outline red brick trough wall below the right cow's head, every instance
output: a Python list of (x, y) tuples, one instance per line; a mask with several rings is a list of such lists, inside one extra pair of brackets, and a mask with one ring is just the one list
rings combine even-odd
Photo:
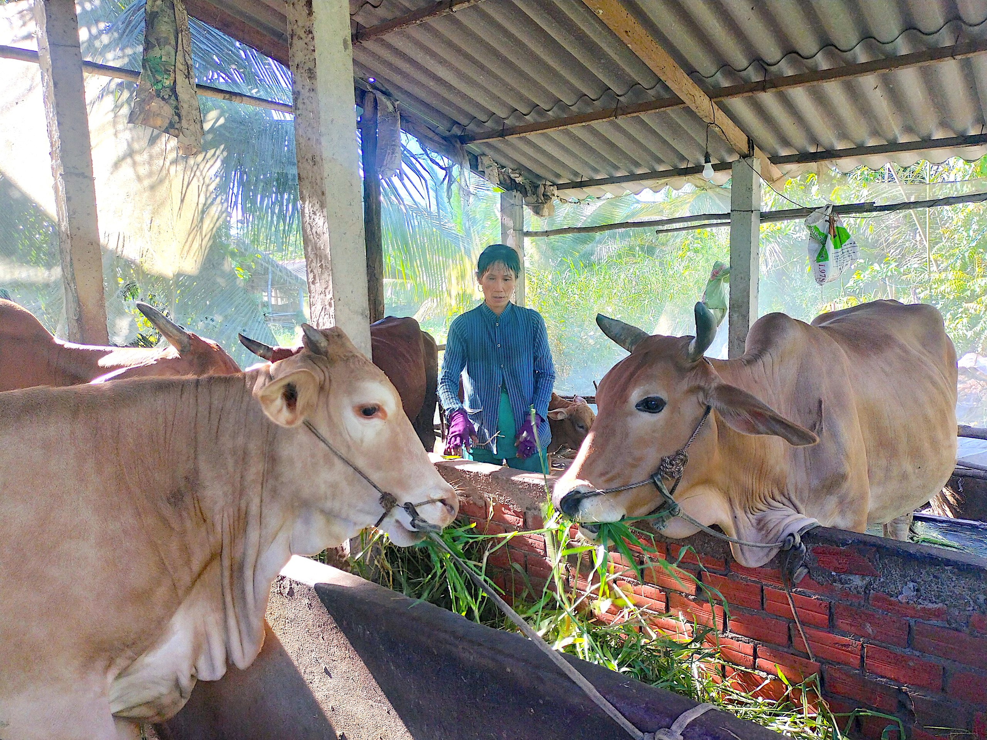
[[(462, 515), (481, 531), (542, 526), (534, 505), (544, 496), (540, 477), (458, 462), (439, 469), (462, 492)], [(715, 626), (721, 656), (737, 668), (728, 678), (740, 686), (761, 686), (764, 696), (780, 696), (785, 687), (777, 678), (779, 666), (796, 680), (819, 674), (823, 696), (836, 712), (868, 708), (893, 714), (916, 740), (949, 735), (937, 727), (987, 740), (987, 563), (830, 529), (813, 530), (804, 541), (809, 575), (794, 589), (793, 600), (814, 660), (793, 620), (777, 562), (743, 567), (707, 535), (661, 541), (658, 550), (672, 560), (682, 555), (680, 567), (719, 590), (728, 615), (691, 578), (680, 583), (663, 568), (646, 567), (640, 554), (643, 582), (627, 577), (625, 588), (654, 613), (659, 629), (682, 629), (681, 622), (659, 616), (667, 612)], [(682, 546), (694, 552), (681, 553)], [(550, 571), (543, 538), (517, 535), (493, 555), (491, 573), (507, 590), (512, 563), (540, 588)], [(854, 729), (878, 740), (886, 725), (865, 718)]]

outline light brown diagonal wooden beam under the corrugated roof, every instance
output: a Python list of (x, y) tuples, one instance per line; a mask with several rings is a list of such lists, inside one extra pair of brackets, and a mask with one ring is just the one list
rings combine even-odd
[(582, 0), (586, 6), (618, 38), (630, 47), (638, 57), (650, 67), (668, 88), (689, 108), (696, 112), (708, 125), (718, 129), (727, 144), (741, 157), (748, 153), (761, 160), (768, 179), (782, 177), (777, 167), (771, 164), (767, 155), (754, 145), (740, 127), (721, 111), (710, 96), (699, 87), (688, 73), (680, 67), (671, 55), (658, 45), (657, 41), (621, 4), (620, 0)]

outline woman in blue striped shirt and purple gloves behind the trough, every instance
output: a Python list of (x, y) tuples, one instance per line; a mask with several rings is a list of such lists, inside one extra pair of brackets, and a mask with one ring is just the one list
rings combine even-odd
[[(438, 382), (449, 419), (445, 454), (547, 472), (555, 368), (541, 314), (510, 302), (520, 272), (510, 247), (484, 250), (477, 260), (484, 302), (449, 327)], [(459, 400), (460, 376), (465, 403)]]

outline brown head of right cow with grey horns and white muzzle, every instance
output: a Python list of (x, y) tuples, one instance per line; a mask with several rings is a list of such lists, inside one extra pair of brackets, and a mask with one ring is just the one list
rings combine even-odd
[[(604, 333), (631, 352), (604, 376), (596, 395), (598, 415), (575, 462), (555, 486), (557, 508), (581, 522), (614, 522), (644, 516), (661, 502), (652, 484), (595, 493), (646, 481), (660, 460), (682, 449), (706, 407), (713, 412), (689, 449), (689, 464), (675, 493), (683, 510), (706, 526), (734, 532), (724, 440), (772, 435), (777, 444), (810, 445), (816, 436), (751, 394), (730, 385), (703, 353), (716, 335), (709, 310), (696, 304), (696, 336), (649, 336), (622, 322), (597, 317)], [(778, 439), (780, 438), (780, 440)], [(781, 442), (784, 440), (784, 442)], [(782, 456), (778, 456), (782, 457)], [(743, 465), (743, 462), (735, 464)], [(672, 519), (663, 534), (687, 537), (693, 525)]]

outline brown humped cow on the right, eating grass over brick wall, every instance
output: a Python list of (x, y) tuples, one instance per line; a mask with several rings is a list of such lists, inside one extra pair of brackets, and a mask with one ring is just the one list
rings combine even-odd
[[(895, 520), (937, 493), (955, 463), (956, 355), (940, 313), (874, 301), (810, 325), (769, 314), (729, 360), (703, 356), (716, 325), (702, 304), (695, 315), (695, 337), (597, 317), (631, 355), (600, 383), (596, 421), (555, 486), (556, 506), (581, 522), (646, 515), (662, 502), (649, 482), (659, 462), (694, 437), (674, 500), (707, 527), (761, 544), (816, 523), (882, 524), (907, 537)], [(638, 481), (648, 482), (598, 492)], [(661, 530), (696, 531), (677, 516)], [(778, 552), (731, 548), (748, 566)]]

